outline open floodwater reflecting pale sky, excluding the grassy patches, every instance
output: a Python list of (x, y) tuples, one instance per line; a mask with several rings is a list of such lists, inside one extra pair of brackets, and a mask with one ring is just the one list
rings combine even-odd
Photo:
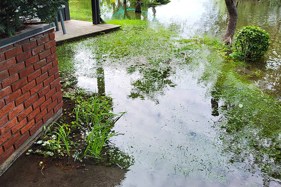
[[(184, 38), (204, 33), (220, 37), (227, 20), (223, 0), (171, 0), (166, 5), (142, 7), (141, 14), (135, 14), (130, 0), (126, 4), (120, 0), (105, 4), (102, 0), (101, 6), (105, 20), (176, 24)], [(237, 28), (255, 25), (270, 33), (268, 55), (249, 68), (259, 69), (263, 78), (257, 84), (277, 95), (281, 91), (280, 8), (280, 4), (240, 1), (237, 24)], [(233, 162), (224, 152), (214, 128), (219, 116), (212, 115), (211, 83), (201, 84), (200, 70), (175, 67), (165, 77), (172, 84), (166, 84), (157, 78), (152, 82), (145, 80), (140, 71), (128, 73), (128, 67), (114, 63), (104, 64), (98, 71), (93, 56), (87, 48), (76, 51), (73, 62), (77, 86), (88, 92), (102, 89), (114, 98), (114, 112), (127, 112), (114, 127), (122, 135), (113, 137), (111, 142), (133, 156), (135, 164), (118, 187), (281, 186), (279, 180), (268, 179), (261, 168), (251, 163), (251, 155), (244, 162)], [(96, 71), (98, 78), (93, 76)], [(143, 84), (136, 84), (138, 81)]]

